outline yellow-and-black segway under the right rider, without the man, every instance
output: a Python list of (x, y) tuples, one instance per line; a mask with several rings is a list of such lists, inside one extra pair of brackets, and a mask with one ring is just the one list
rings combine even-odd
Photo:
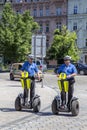
[[(58, 86), (59, 90), (62, 94), (65, 94), (65, 98), (62, 100), (61, 95), (57, 95), (53, 102), (52, 102), (52, 112), (53, 114), (59, 114), (59, 112), (71, 112), (72, 116), (77, 116), (79, 114), (79, 102), (78, 98), (72, 97), (70, 100), (70, 103), (68, 103), (68, 87), (69, 87), (69, 82), (66, 78), (65, 73), (61, 73), (59, 75), (58, 79)], [(62, 108), (62, 104), (64, 107)]]

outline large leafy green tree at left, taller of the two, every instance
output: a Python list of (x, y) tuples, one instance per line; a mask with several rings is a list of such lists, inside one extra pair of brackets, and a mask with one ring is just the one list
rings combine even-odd
[(18, 62), (31, 52), (32, 33), (38, 29), (30, 12), (17, 14), (6, 3), (0, 20), (0, 53), (6, 61)]

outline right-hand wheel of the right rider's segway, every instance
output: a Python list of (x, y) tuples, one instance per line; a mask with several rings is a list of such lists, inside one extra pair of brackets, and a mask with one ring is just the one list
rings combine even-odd
[(72, 116), (77, 116), (79, 114), (79, 102), (77, 100), (72, 101), (71, 112)]

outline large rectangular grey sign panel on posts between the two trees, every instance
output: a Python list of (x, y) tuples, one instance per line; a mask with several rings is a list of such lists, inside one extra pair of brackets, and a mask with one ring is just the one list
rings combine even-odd
[(46, 56), (46, 36), (45, 35), (32, 36), (32, 55), (34, 57)]

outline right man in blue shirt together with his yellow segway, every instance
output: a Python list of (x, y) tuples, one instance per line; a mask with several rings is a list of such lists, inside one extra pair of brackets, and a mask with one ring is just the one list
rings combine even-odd
[(71, 112), (73, 116), (79, 114), (78, 98), (73, 97), (74, 76), (77, 71), (73, 64), (70, 63), (71, 57), (64, 57), (64, 64), (58, 70), (58, 86), (60, 95), (57, 95), (52, 102), (53, 114), (59, 112)]

